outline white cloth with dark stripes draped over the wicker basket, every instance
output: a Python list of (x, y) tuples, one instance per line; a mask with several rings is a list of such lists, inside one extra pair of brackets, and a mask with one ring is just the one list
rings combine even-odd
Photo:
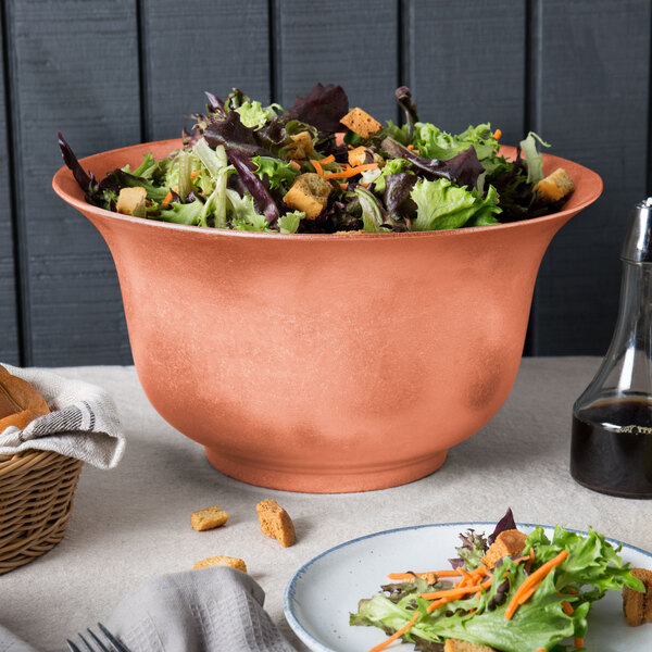
[(42, 450), (76, 457), (98, 468), (113, 468), (120, 462), (125, 438), (106, 391), (43, 369), (2, 366), (32, 383), (55, 411), (39, 416), (22, 430), (10, 426), (0, 432), (0, 455)]

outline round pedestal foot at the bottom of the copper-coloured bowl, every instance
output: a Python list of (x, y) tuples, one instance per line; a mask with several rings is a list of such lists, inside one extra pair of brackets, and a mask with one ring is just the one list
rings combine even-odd
[(369, 465), (365, 469), (334, 466), (331, 469), (301, 469), (299, 467), (272, 467), (261, 464), (260, 459), (242, 460), (224, 454), (223, 450), (205, 447), (209, 462), (225, 475), (267, 489), (300, 491), (304, 493), (352, 493), (387, 489), (406, 485), (438, 471), (446, 462), (448, 450), (408, 464), (394, 466)]

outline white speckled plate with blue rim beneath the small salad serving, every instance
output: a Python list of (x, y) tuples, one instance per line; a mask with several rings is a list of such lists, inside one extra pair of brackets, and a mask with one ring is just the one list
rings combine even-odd
[[(314, 652), (365, 652), (386, 640), (376, 627), (352, 627), (349, 613), (361, 598), (376, 594), (387, 574), (449, 568), (456, 556), (459, 535), (473, 528), (489, 535), (492, 523), (447, 523), (377, 532), (336, 546), (299, 568), (285, 591), (284, 611), (290, 627)], [(518, 524), (523, 531), (536, 525)], [(543, 526), (550, 537), (554, 528)], [(614, 544), (616, 541), (610, 539)], [(652, 554), (623, 546), (620, 555), (634, 566), (652, 568)], [(589, 616), (586, 645), (591, 652), (652, 650), (652, 625), (629, 627), (623, 617), (618, 591), (597, 602)], [(411, 643), (389, 650), (410, 652)]]

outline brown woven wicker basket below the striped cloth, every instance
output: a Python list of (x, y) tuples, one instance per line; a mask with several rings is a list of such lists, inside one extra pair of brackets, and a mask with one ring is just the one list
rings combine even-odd
[(0, 575), (61, 541), (83, 464), (50, 451), (0, 456)]

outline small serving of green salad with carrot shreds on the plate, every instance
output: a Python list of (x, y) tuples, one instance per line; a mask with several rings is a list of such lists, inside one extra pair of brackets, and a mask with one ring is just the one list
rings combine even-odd
[[(500, 550), (501, 537), (518, 543)], [(526, 536), (509, 510), (489, 537), (468, 530), (461, 538), (451, 569), (390, 574), (379, 594), (360, 601), (351, 625), (390, 637), (374, 652), (398, 638), (424, 652), (440, 652), (447, 641), (447, 650), (468, 649), (454, 641), (502, 652), (586, 650), (593, 602), (607, 589), (644, 590), (620, 549), (591, 528), (582, 535), (557, 526), (549, 539), (537, 527)]]

